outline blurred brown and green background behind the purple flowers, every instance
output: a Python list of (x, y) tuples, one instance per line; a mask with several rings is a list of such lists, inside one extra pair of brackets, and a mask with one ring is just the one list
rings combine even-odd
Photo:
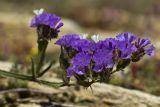
[[(0, 0), (0, 61), (25, 65), (37, 54), (36, 30), (29, 25), (33, 10), (40, 8), (63, 18), (60, 36), (89, 33), (115, 37), (129, 31), (150, 38), (156, 47), (155, 56), (131, 64), (125, 72), (113, 76), (110, 84), (160, 95), (159, 0)], [(54, 42), (50, 42), (47, 58), (56, 62), (59, 47)], [(0, 82), (0, 89), (27, 87), (23, 82), (13, 85), (13, 80), (7, 81), (9, 85)]]

